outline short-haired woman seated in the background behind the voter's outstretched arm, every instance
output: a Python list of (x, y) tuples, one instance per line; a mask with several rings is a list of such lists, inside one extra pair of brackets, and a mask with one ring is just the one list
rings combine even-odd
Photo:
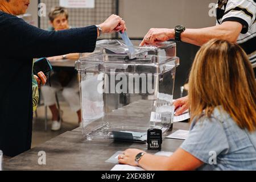
[[(51, 23), (51, 31), (61, 31), (71, 28), (68, 23), (68, 10), (64, 7), (53, 7), (49, 12), (49, 21)], [(67, 55), (48, 57), (50, 61), (63, 59), (77, 60), (79, 53), (69, 53)], [(75, 64), (75, 63), (74, 63)], [(56, 131), (61, 128), (62, 111), (59, 111), (56, 106), (55, 94), (62, 90), (63, 97), (68, 102), (73, 111), (77, 113), (79, 123), (81, 123), (81, 109), (79, 97), (79, 84), (75, 70), (64, 71), (59, 70), (51, 76), (51, 86), (48, 84), (42, 87), (42, 95), (44, 105), (48, 106), (52, 113), (51, 130)]]

